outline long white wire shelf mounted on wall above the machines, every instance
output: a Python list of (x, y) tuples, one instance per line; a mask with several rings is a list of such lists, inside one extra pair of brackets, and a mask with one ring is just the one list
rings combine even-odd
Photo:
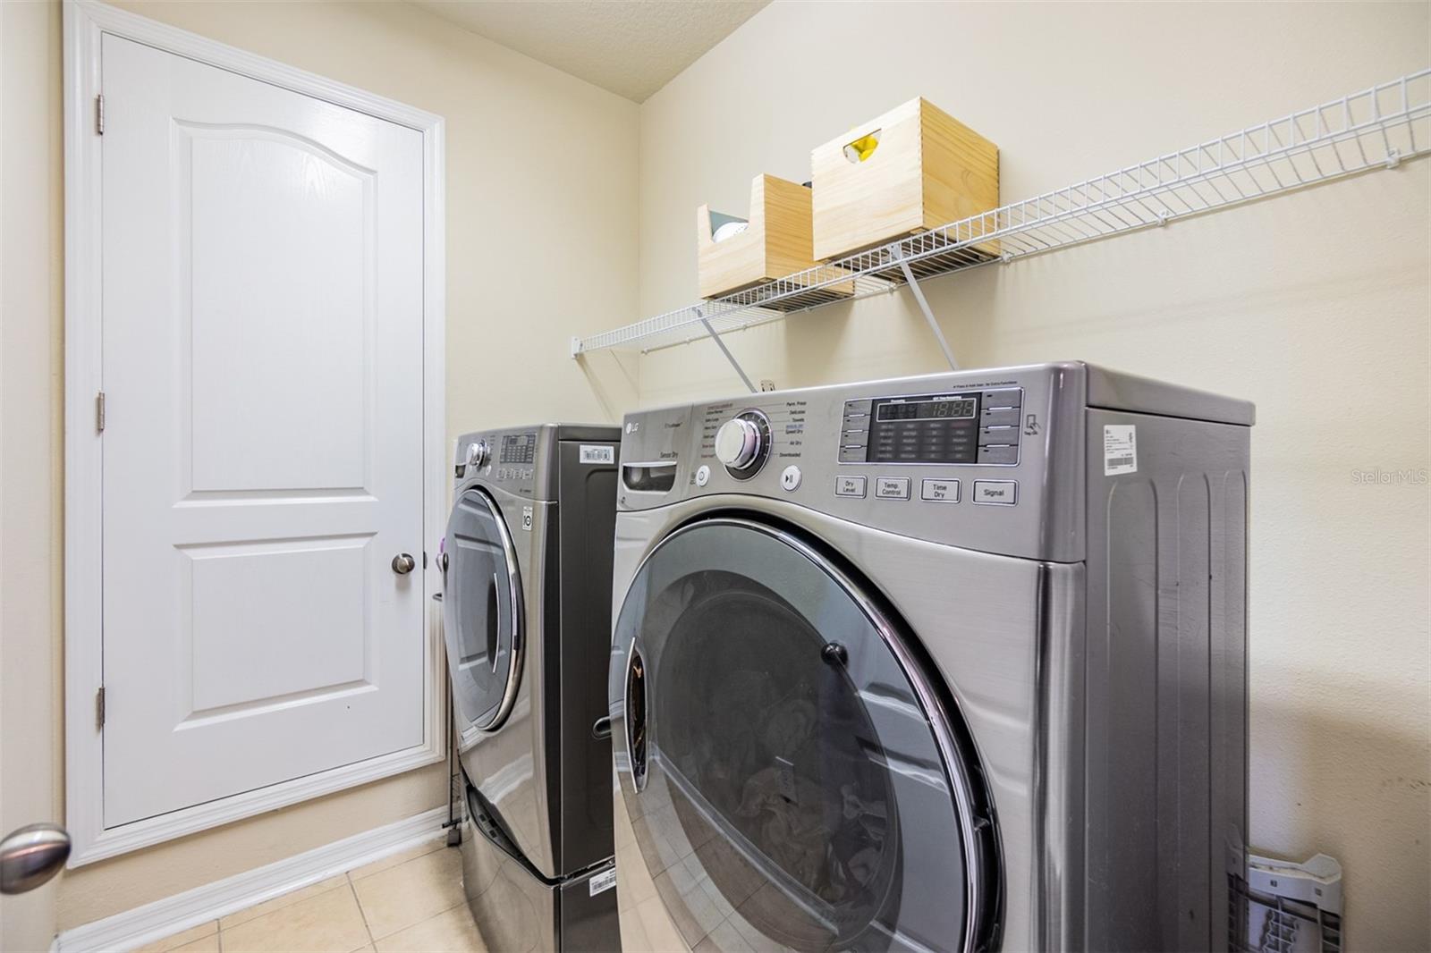
[(746, 290), (572, 338), (571, 353), (650, 352), (705, 338), (720, 343), (718, 335), (790, 313), (1391, 169), (1428, 152), (1431, 69)]

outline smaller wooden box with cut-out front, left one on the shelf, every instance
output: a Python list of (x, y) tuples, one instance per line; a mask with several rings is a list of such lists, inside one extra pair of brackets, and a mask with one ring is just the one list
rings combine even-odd
[(708, 205), (695, 209), (695, 263), (701, 298), (784, 278), (814, 265), (810, 253), (810, 189), (776, 176), (750, 183), (750, 225), (714, 239)]

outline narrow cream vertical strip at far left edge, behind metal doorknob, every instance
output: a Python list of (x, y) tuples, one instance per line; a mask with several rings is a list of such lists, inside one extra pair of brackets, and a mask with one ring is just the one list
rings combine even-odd
[[(60, 20), (0, 3), (0, 834), (63, 821)], [(57, 881), (0, 897), (0, 950), (47, 949)]]

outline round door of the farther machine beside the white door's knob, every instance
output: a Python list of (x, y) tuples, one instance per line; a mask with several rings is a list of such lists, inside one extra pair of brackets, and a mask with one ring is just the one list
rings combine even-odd
[(507, 522), (481, 489), (465, 491), (452, 507), (442, 587), (458, 730), (495, 731), (521, 681), (522, 594)]

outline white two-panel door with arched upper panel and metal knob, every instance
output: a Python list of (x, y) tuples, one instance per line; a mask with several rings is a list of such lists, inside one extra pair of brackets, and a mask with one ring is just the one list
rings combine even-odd
[(269, 83), (102, 56), (113, 827), (424, 743), (424, 156)]

